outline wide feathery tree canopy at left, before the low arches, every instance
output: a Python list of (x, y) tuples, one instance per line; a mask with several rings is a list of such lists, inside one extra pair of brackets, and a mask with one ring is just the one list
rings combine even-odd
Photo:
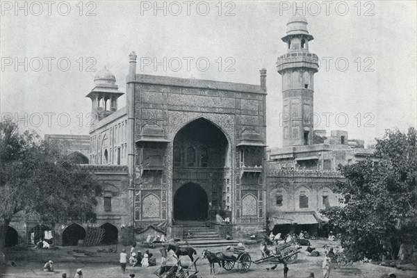
[(33, 131), (19, 133), (13, 122), (0, 122), (1, 220), (17, 212), (38, 213), (44, 222), (95, 220), (101, 192), (94, 174), (78, 167), (62, 145)]

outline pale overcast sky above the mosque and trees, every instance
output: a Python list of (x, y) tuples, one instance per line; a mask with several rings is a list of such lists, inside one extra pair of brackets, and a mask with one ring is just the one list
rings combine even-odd
[[(20, 9), (15, 3), (1, 6), (2, 117), (27, 113), (21, 126), (42, 135), (88, 134), (85, 95), (96, 74), (90, 70), (106, 65), (125, 92), (128, 56), (136, 51), (143, 74), (259, 84), (265, 67), (268, 145), (281, 145), (275, 63), (286, 53), (281, 38), (293, 1), (158, 1), (165, 10), (154, 1), (21, 1)], [(385, 129), (416, 126), (416, 1), (297, 3), (314, 36), (309, 50), (321, 62), (314, 77), (316, 129), (347, 130), (349, 138), (369, 141)], [(161, 64), (166, 58), (166, 72), (163, 65), (154, 69), (154, 58)], [(140, 61), (149, 60), (141, 69)]]

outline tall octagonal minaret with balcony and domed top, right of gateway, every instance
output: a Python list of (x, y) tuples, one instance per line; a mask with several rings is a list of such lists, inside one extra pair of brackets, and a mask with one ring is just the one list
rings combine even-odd
[(280, 56), (277, 69), (282, 76), (283, 146), (310, 145), (313, 138), (314, 74), (318, 72), (318, 58), (309, 52), (313, 36), (307, 31), (307, 20), (296, 14), (287, 23), (287, 53)]

